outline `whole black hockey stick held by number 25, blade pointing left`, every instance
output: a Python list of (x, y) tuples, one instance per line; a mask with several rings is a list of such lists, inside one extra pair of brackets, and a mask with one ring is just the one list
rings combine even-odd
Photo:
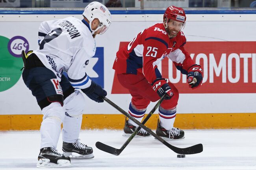
[[(166, 94), (165, 94), (166, 95)], [(163, 102), (165, 95), (163, 95), (161, 97), (161, 99), (156, 103), (156, 105), (154, 106), (154, 108), (152, 108), (152, 110), (148, 113), (147, 117), (145, 117), (145, 119), (143, 120), (142, 124), (145, 124), (148, 119), (151, 117), (151, 115), (156, 111), (156, 109), (160, 106), (161, 102)], [(106, 101), (106, 99), (104, 99)], [(136, 130), (132, 133), (132, 135), (127, 139), (127, 141), (122, 145), (122, 147), (120, 149), (117, 148), (113, 148), (111, 146), (108, 146), (104, 143), (101, 142), (96, 142), (96, 147), (104, 152), (108, 152), (109, 154), (112, 155), (120, 155), (121, 152), (124, 150), (124, 148), (126, 148), (126, 146), (132, 141), (132, 139), (135, 137), (135, 135), (137, 135), (137, 133), (139, 132), (139, 130), (141, 129), (141, 127), (139, 126), (138, 128), (136, 128)]]

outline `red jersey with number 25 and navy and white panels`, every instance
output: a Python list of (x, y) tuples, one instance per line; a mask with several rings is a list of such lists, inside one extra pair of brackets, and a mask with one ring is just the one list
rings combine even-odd
[(150, 84), (162, 78), (157, 66), (164, 57), (173, 61), (183, 74), (195, 64), (184, 49), (186, 37), (180, 31), (174, 38), (169, 38), (162, 23), (144, 29), (127, 46), (117, 51), (113, 69), (117, 74), (143, 73)]

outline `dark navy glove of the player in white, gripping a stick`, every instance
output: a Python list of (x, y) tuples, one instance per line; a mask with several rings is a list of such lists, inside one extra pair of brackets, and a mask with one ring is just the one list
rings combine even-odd
[(91, 86), (89, 88), (82, 89), (82, 91), (90, 99), (98, 103), (104, 102), (102, 97), (105, 97), (107, 95), (107, 91), (93, 81), (91, 81)]

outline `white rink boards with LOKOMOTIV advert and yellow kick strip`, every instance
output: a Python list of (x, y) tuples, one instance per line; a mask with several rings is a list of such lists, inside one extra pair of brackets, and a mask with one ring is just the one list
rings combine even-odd
[[(80, 11), (82, 14), (82, 11)], [(47, 13), (47, 14), (46, 14)], [(117, 12), (116, 12), (117, 13)], [(160, 13), (160, 12), (159, 12)], [(191, 90), (186, 76), (166, 58), (159, 66), (163, 77), (178, 88), (180, 99), (175, 126), (191, 128), (256, 127), (256, 12), (223, 13), (187, 11), (183, 30), (186, 50), (204, 68), (201, 88)], [(37, 48), (40, 22), (70, 16), (51, 12), (5, 14), (0, 11), (0, 130), (39, 129), (39, 106), (22, 81), (21, 50)], [(77, 18), (81, 15), (74, 13)], [(140, 31), (162, 20), (162, 14), (114, 14), (108, 31), (96, 37), (96, 55), (87, 74), (108, 92), (108, 98), (128, 111), (130, 95), (112, 69), (115, 53)], [(124, 116), (107, 103), (86, 98), (83, 129), (121, 129)], [(154, 106), (151, 103), (148, 110)], [(156, 128), (158, 115), (147, 126)]]

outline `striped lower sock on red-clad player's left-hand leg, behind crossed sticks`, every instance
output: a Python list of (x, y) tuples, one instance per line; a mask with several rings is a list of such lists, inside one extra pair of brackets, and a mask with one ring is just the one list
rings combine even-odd
[[(145, 109), (137, 109), (135, 108), (135, 106), (132, 104), (132, 102), (130, 102), (130, 106), (129, 106), (129, 114), (134, 117), (137, 121), (141, 122), (145, 112), (146, 112), (147, 108)], [(133, 126), (138, 126), (134, 121), (132, 120), (128, 120), (128, 123), (132, 124)]]

